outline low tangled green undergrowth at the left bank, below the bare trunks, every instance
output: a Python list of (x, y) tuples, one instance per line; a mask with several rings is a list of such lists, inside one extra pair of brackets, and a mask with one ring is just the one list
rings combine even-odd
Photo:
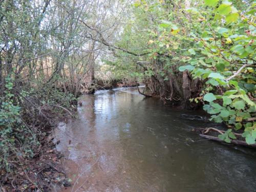
[(14, 77), (6, 77), (4, 95), (0, 100), (2, 176), (13, 171), (13, 162), (19, 157), (34, 156), (34, 150), (40, 145), (39, 139), (45, 137), (47, 130), (54, 125), (54, 118), (63, 112), (62, 108), (71, 108), (75, 100), (72, 94), (55, 88), (19, 90)]

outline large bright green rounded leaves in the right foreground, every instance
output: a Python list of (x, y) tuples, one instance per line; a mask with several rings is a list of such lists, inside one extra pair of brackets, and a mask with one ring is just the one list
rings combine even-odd
[[(254, 144), (256, 124), (248, 120), (256, 107), (253, 100), (255, 4), (243, 12), (228, 1), (205, 1), (205, 5), (209, 6), (203, 7), (207, 11), (193, 9), (193, 17), (200, 18), (201, 22), (194, 23), (195, 29), (188, 38), (195, 42), (187, 52), (191, 74), (207, 80), (202, 94), (203, 100), (208, 102), (204, 110), (211, 114), (210, 120), (225, 122), (234, 130), (243, 128), (246, 142)], [(221, 138), (229, 141), (223, 135)]]

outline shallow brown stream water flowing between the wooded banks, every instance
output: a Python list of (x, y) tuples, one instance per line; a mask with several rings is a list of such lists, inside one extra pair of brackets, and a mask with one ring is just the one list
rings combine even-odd
[(55, 140), (74, 184), (60, 191), (256, 191), (255, 151), (200, 138), (188, 120), (136, 88), (83, 95)]

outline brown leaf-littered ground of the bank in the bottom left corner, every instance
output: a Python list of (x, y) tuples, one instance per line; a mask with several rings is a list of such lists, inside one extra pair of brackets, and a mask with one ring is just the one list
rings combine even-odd
[[(53, 127), (51, 127), (53, 128)], [(52, 191), (53, 188), (70, 186), (60, 162), (62, 155), (52, 142), (52, 129), (40, 140), (33, 158), (18, 157), (11, 161), (12, 172), (1, 170), (0, 191)]]

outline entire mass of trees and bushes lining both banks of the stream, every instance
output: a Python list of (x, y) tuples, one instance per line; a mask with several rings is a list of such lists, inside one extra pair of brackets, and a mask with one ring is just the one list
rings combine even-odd
[[(151, 81), (164, 99), (201, 101), (229, 127), (220, 139), (242, 130), (255, 143), (255, 3), (137, 0), (126, 15), (126, 1), (81, 4), (0, 2), (1, 168), (10, 170), (10, 154), (33, 156), (56, 106), (69, 108), (92, 84), (95, 63), (99, 76)], [(190, 78), (201, 87), (193, 91)]]

